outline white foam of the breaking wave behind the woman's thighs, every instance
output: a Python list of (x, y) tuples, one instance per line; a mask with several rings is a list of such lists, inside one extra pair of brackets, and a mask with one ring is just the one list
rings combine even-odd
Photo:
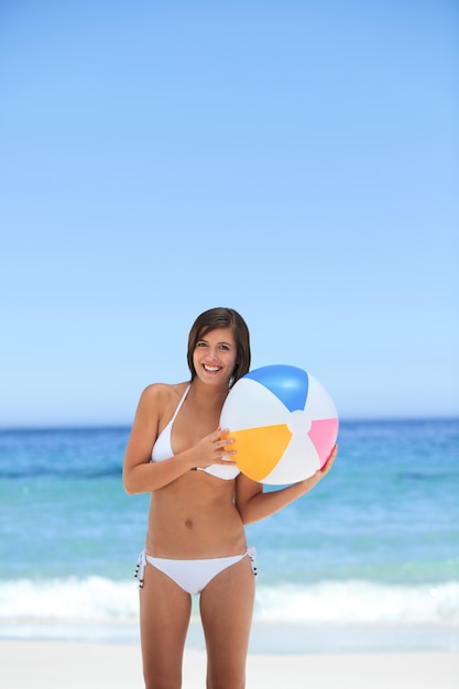
[[(138, 605), (133, 581), (88, 577), (0, 582), (0, 625), (133, 623), (138, 620)], [(308, 586), (258, 584), (254, 619), (304, 624), (459, 626), (459, 581), (438, 586), (395, 586), (358, 580), (321, 581)]]

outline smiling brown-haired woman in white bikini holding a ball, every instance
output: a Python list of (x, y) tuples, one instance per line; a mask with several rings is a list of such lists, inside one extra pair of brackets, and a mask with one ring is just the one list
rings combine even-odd
[(188, 338), (190, 381), (142, 393), (127, 446), (123, 484), (151, 493), (145, 550), (138, 565), (146, 689), (179, 689), (192, 611), (200, 594), (208, 689), (242, 689), (254, 601), (254, 553), (244, 524), (309, 491), (330, 470), (336, 448), (314, 477), (278, 491), (241, 474), (228, 429), (219, 428), (231, 385), (249, 371), (242, 317), (214, 308)]

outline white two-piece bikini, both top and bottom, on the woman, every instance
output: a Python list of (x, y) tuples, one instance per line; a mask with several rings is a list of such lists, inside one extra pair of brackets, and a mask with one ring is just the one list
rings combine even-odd
[[(172, 419), (157, 436), (156, 442), (154, 444), (152, 450), (152, 462), (163, 461), (165, 459), (174, 457), (174, 452), (171, 446), (172, 427), (178, 412), (181, 411), (183, 403), (186, 400), (189, 387), (190, 386), (188, 385), (188, 387), (185, 390), (185, 393), (179, 401)], [(211, 475), (218, 479), (222, 479), (225, 481), (236, 479), (236, 477), (240, 473), (239, 469), (233, 464), (230, 464), (229, 467), (225, 467), (222, 464), (211, 464), (210, 467), (205, 468), (197, 467), (197, 469), (205, 471), (206, 473), (210, 473)], [(240, 560), (242, 560), (242, 558), (244, 557), (250, 558), (253, 576), (256, 577), (254, 548), (248, 548), (242, 555), (196, 560), (175, 560), (162, 557), (153, 557), (151, 555), (147, 555), (145, 550), (142, 550), (139, 556), (138, 565), (135, 567), (134, 577), (139, 581), (139, 588), (142, 588), (146, 562), (149, 562), (150, 565), (162, 571), (164, 575), (170, 577), (170, 579), (172, 579), (184, 591), (186, 591), (190, 595), (196, 595), (206, 588), (206, 586), (209, 583), (209, 581), (214, 579), (214, 577), (223, 571), (223, 569), (227, 569), (228, 567), (240, 562)]]

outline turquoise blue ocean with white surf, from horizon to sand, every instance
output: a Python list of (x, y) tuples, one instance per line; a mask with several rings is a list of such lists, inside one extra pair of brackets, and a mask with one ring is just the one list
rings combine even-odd
[[(139, 642), (129, 430), (0, 431), (0, 638)], [(458, 652), (459, 419), (343, 420), (338, 442), (314, 491), (247, 527), (251, 650)]]

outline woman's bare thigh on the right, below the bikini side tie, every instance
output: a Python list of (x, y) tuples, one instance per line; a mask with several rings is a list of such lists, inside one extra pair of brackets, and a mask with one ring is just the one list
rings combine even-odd
[(209, 689), (244, 687), (254, 597), (249, 557), (217, 575), (200, 594)]

